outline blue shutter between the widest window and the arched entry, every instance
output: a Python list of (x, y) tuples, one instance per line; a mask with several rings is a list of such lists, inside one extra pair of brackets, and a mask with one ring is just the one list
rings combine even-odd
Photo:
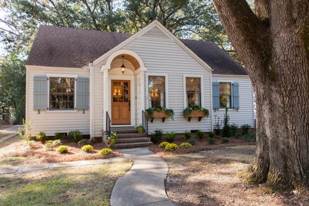
[(76, 78), (76, 109), (89, 109), (89, 78)]

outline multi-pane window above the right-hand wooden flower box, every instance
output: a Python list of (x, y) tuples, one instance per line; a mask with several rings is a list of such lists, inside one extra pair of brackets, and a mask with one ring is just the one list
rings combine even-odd
[(186, 78), (186, 90), (187, 90), (187, 106), (192, 107), (194, 105), (201, 106), (201, 79), (187, 77)]

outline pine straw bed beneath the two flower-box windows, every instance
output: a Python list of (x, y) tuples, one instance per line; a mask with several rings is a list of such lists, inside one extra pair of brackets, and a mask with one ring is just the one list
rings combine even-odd
[(176, 139), (176, 141), (173, 142), (173, 143), (178, 145), (178, 150), (174, 151), (174, 152), (165, 151), (165, 149), (159, 147), (159, 144), (152, 144), (148, 148), (152, 152), (163, 157), (163, 156), (166, 156), (166, 155), (187, 154), (187, 153), (199, 152), (199, 151), (203, 151), (203, 150), (220, 149), (220, 148), (224, 148), (224, 147), (231, 147), (231, 146), (237, 146), (237, 145), (248, 145), (248, 144), (255, 145), (256, 144), (255, 142), (243, 142), (241, 139), (237, 139), (237, 138), (234, 138), (234, 137), (231, 137), (229, 142), (222, 143), (222, 137), (216, 136), (215, 137), (216, 141), (215, 141), (214, 144), (208, 143), (208, 137), (204, 137), (201, 140), (197, 139), (196, 137), (192, 138), (192, 139), (196, 140), (197, 142), (191, 148), (181, 148), (180, 147), (181, 143), (187, 142), (187, 140), (184, 137)]

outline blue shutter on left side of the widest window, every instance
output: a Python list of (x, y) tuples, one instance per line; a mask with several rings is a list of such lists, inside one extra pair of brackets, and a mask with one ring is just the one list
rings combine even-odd
[(40, 110), (48, 110), (47, 103), (47, 81), (46, 76), (36, 76), (34, 77), (34, 102), (33, 108)]

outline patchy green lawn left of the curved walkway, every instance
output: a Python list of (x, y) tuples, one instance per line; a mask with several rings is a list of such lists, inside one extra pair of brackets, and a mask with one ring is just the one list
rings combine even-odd
[(129, 160), (0, 175), (1, 205), (110, 205), (116, 180), (132, 166)]

